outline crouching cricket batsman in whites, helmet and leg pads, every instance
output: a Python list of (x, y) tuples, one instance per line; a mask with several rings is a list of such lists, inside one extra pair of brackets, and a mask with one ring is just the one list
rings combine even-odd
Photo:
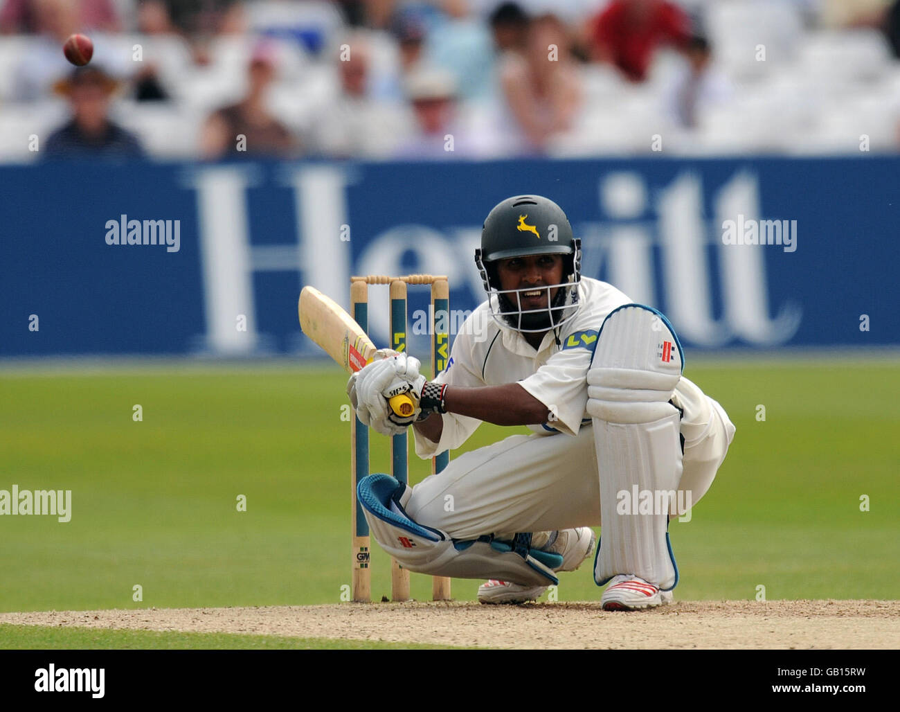
[[(487, 301), (433, 381), (393, 354), (354, 374), (357, 417), (384, 435), (413, 428), (429, 458), (482, 421), (527, 425), (461, 455), (414, 487), (385, 474), (359, 483), (372, 534), (410, 571), (488, 579), (482, 603), (536, 600), (596, 548), (605, 610), (672, 600), (672, 516), (707, 492), (734, 425), (685, 378), (678, 337), (658, 311), (581, 276), (581, 240), (538, 195), (499, 203), (475, 251)], [(401, 418), (387, 399), (418, 405)], [(599, 543), (590, 527), (601, 526)]]

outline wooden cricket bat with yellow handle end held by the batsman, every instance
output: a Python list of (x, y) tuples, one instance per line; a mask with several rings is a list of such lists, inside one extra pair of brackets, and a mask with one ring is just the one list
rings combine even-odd
[[(365, 331), (341, 309), (338, 302), (315, 287), (303, 287), (297, 303), (303, 333), (331, 356), (347, 373), (356, 373), (371, 364), (375, 345)], [(388, 403), (401, 418), (409, 418), (416, 404), (406, 393), (395, 395)]]

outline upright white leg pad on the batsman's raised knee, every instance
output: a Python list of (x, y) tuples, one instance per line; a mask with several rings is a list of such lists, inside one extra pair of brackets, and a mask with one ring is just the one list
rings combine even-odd
[(667, 535), (678, 513), (680, 413), (669, 401), (682, 355), (668, 321), (629, 304), (603, 322), (588, 372), (602, 531), (594, 579), (622, 573), (663, 590), (678, 582)]

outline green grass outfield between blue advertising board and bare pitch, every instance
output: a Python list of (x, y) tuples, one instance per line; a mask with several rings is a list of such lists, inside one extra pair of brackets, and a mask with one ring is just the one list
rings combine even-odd
[[(896, 599), (900, 362), (689, 361), (686, 374), (737, 436), (693, 520), (671, 527), (679, 599), (758, 586)], [(0, 517), (0, 611), (337, 603), (350, 582), (345, 382), (330, 365), (0, 372), (0, 489), (72, 491), (67, 523)], [(467, 447), (518, 430), (485, 426)], [(418, 481), (428, 464), (410, 463)], [(387, 467), (373, 434), (373, 469)], [(428, 599), (430, 581), (412, 578)], [(475, 590), (454, 581), (457, 599)], [(373, 595), (390, 595), (377, 546)], [(563, 574), (558, 595), (597, 599), (590, 566)]]

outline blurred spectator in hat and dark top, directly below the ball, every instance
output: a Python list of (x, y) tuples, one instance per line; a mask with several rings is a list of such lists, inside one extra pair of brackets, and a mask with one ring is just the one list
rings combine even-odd
[(109, 117), (110, 101), (118, 82), (98, 65), (76, 68), (55, 89), (67, 97), (72, 118), (50, 134), (46, 158), (139, 158), (140, 142)]

